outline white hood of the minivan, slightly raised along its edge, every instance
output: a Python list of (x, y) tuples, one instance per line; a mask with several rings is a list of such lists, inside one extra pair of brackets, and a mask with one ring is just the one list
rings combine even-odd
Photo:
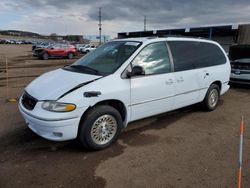
[(38, 100), (57, 100), (64, 93), (79, 84), (100, 78), (101, 76), (70, 72), (57, 69), (33, 80), (25, 91)]

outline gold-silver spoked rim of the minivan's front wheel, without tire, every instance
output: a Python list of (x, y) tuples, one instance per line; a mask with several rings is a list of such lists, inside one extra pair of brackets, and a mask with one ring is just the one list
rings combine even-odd
[(117, 132), (117, 121), (112, 115), (100, 116), (91, 127), (91, 138), (97, 145), (107, 144)]

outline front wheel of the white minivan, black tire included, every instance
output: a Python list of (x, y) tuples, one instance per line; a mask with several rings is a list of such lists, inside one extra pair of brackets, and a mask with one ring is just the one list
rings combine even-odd
[(85, 148), (100, 150), (114, 143), (122, 129), (120, 113), (111, 106), (96, 106), (82, 119), (78, 138)]

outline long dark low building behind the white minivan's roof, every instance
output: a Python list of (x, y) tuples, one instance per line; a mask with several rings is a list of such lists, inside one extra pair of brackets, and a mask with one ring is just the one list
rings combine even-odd
[(235, 24), (182, 29), (165, 29), (118, 33), (118, 38), (131, 37), (201, 37), (217, 41), (228, 52), (232, 44), (250, 44), (250, 24)]

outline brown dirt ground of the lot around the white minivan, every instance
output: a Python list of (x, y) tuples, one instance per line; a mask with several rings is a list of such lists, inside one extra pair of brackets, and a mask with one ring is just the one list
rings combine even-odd
[(0, 187), (236, 187), (239, 122), (245, 117), (243, 186), (250, 187), (250, 87), (233, 86), (213, 112), (194, 105), (129, 125), (110, 148), (31, 132), (17, 103), (32, 79), (72, 62), (33, 58), (31, 46), (0, 45)]

